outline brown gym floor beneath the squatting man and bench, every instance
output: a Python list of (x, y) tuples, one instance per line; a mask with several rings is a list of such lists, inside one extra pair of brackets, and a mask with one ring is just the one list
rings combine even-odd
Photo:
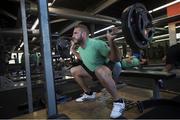
[[(150, 89), (120, 84), (118, 85), (118, 93), (126, 100), (127, 103), (127, 108), (123, 115), (123, 118), (125, 119), (139, 118), (143, 114), (146, 114), (153, 109), (149, 108), (146, 109), (143, 113), (140, 113), (138, 107), (136, 105), (131, 104), (136, 101), (150, 99), (152, 96), (152, 91)], [(161, 92), (162, 98), (172, 99), (176, 96), (177, 94), (174, 93)], [(69, 102), (58, 104), (59, 113), (67, 115), (70, 119), (109, 119), (111, 108), (112, 99), (105, 89), (102, 89), (101, 92), (97, 93), (97, 99), (95, 101), (89, 101), (86, 103), (76, 103), (74, 100), (72, 100)], [(173, 111), (171, 110), (171, 112)], [(46, 118), (47, 112), (46, 109), (43, 109), (30, 114), (18, 116), (15, 119)]]

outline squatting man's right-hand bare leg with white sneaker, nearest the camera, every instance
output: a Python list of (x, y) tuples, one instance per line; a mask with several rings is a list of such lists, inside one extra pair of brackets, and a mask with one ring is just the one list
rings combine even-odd
[(106, 66), (98, 67), (95, 70), (95, 74), (101, 84), (107, 89), (107, 91), (112, 95), (114, 102), (113, 102), (113, 109), (111, 111), (111, 118), (118, 118), (122, 115), (125, 109), (124, 101), (118, 96), (116, 85), (114, 80), (112, 79), (112, 72)]

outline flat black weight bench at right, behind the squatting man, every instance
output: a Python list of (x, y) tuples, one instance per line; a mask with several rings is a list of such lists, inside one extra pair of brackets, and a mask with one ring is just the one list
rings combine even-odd
[(122, 70), (120, 76), (151, 78), (154, 81), (152, 99), (137, 101), (136, 103), (140, 112), (143, 112), (146, 108), (158, 105), (180, 106), (179, 102), (160, 98), (160, 88), (163, 86), (163, 81), (175, 77), (175, 73), (151, 70)]

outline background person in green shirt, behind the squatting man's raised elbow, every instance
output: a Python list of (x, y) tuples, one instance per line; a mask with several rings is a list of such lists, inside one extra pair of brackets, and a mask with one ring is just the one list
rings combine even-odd
[(132, 50), (127, 52), (126, 58), (122, 59), (123, 69), (133, 69), (139, 67), (140, 61), (136, 56), (132, 55)]

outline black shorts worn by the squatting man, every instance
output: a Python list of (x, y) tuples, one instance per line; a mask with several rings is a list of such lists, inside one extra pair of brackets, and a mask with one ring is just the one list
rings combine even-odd
[[(113, 67), (114, 67), (114, 64), (115, 64), (115, 62), (109, 61), (108, 63), (106, 63), (104, 65), (107, 66), (112, 71)], [(81, 65), (87, 71), (87, 73), (89, 73), (91, 75), (93, 80), (97, 80), (95, 72), (89, 70), (81, 60), (78, 61), (78, 63), (76, 63), (76, 65)]]

